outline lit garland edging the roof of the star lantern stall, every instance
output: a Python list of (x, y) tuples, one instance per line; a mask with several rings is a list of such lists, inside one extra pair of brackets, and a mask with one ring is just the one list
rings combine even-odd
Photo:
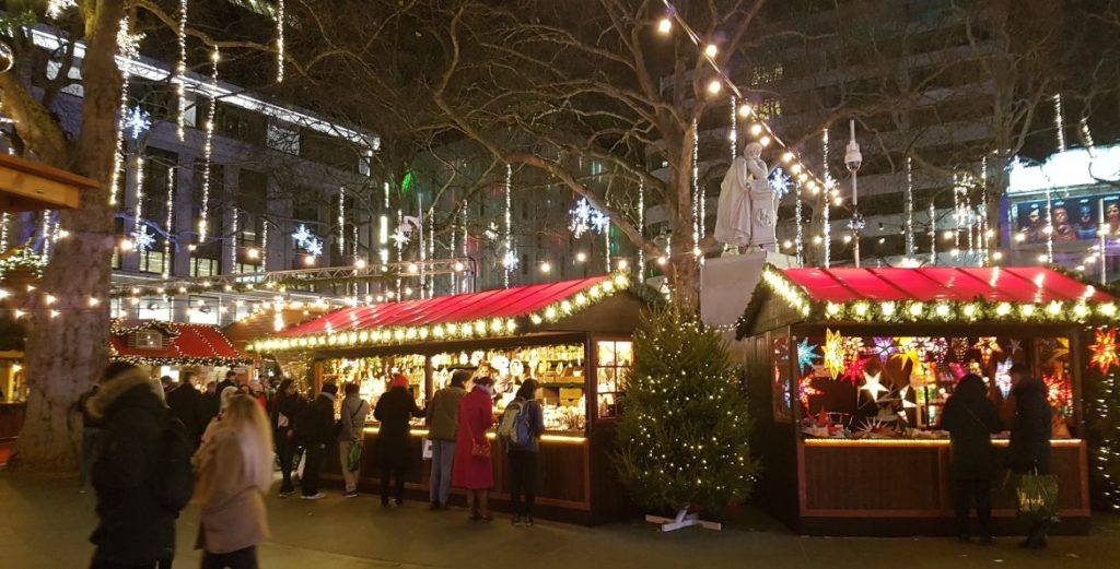
[[(785, 301), (806, 321), (876, 322), (883, 324), (973, 322), (1113, 324), (1120, 316), (1120, 306), (1113, 302), (1026, 303), (982, 298), (931, 302), (913, 300), (821, 302), (810, 298), (804, 288), (773, 266), (766, 266), (763, 269), (762, 281), (771, 293)], [(739, 339), (749, 334), (752, 315), (760, 307), (762, 298), (757, 298), (759, 296), (757, 294), (754, 296), (747, 305), (746, 312), (736, 323)]]

